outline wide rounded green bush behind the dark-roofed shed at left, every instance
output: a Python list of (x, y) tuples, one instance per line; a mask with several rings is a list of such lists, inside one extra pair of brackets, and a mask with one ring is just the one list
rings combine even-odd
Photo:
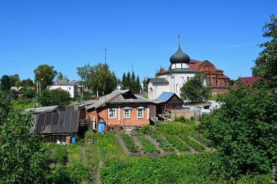
[(39, 102), (42, 106), (67, 106), (71, 102), (70, 95), (58, 90), (42, 90)]

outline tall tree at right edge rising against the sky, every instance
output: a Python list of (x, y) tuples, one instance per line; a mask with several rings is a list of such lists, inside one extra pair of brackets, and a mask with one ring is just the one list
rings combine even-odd
[(265, 23), (262, 36), (270, 40), (260, 44), (264, 49), (256, 58), (255, 66), (251, 68), (252, 74), (272, 78), (277, 75), (277, 18), (274, 15), (270, 16), (270, 22)]

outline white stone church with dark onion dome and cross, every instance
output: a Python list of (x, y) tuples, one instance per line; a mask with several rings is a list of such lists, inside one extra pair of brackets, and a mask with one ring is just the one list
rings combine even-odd
[[(179, 36), (180, 39), (180, 36)], [(197, 70), (189, 68), (190, 58), (183, 53), (180, 47), (178, 51), (170, 57), (169, 70), (161, 68), (156, 73), (156, 78), (148, 79), (148, 98), (150, 100), (157, 99), (164, 91), (175, 93), (180, 97), (180, 88), (188, 80), (193, 77)]]

